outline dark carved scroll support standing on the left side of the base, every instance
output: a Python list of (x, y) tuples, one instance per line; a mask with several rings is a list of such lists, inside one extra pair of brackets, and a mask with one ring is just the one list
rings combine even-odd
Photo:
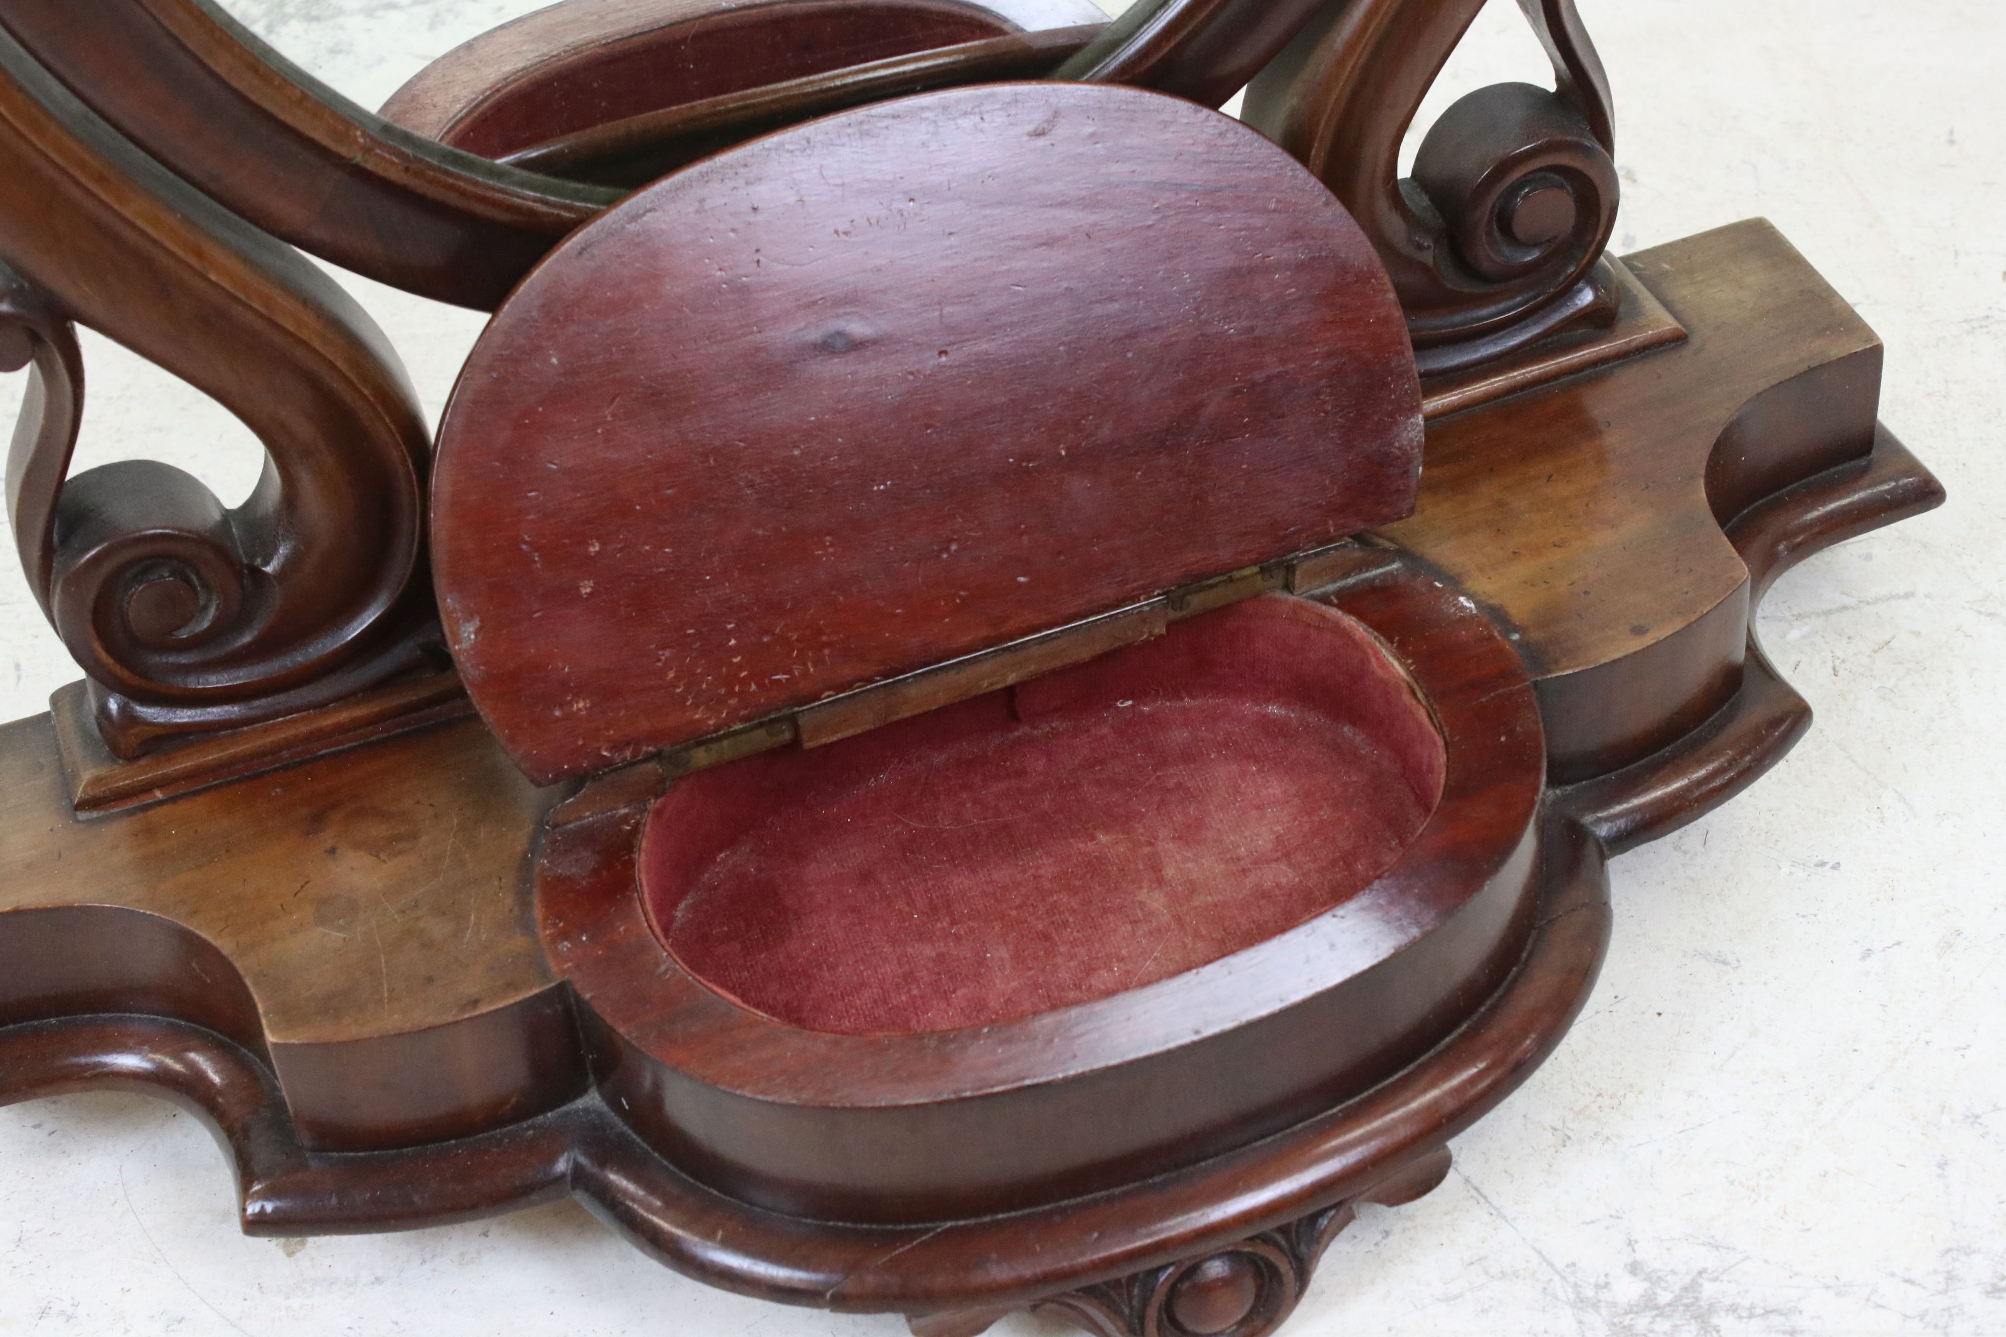
[[(325, 275), (132, 148), (0, 34), (0, 329), (34, 363), (8, 461), (28, 581), (100, 690), (106, 742), (293, 714), (423, 659), (429, 441), (381, 331)], [(124, 461), (64, 481), (70, 321), (263, 441), (239, 507)]]

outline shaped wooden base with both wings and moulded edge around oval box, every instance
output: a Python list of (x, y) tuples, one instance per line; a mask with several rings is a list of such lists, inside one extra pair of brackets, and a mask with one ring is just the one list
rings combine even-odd
[(1549, 742), (1539, 912), (1470, 1020), (1296, 1127), (1097, 1197), (953, 1225), (746, 1207), (596, 1092), (538, 940), (560, 790), (459, 720), (82, 820), (48, 716), (0, 728), (0, 1098), (201, 1110), (251, 1233), (576, 1195), (704, 1281), (931, 1337), (1043, 1307), (1101, 1333), (1276, 1327), (1358, 1201), (1398, 1203), (1551, 1052), (1609, 934), (1605, 860), (1725, 802), (1807, 724), (1751, 637), (1819, 547), (1942, 493), (1876, 427), (1880, 345), (1765, 225), (1631, 257), (1689, 339), (1430, 425), (1386, 543), (1507, 629)]

